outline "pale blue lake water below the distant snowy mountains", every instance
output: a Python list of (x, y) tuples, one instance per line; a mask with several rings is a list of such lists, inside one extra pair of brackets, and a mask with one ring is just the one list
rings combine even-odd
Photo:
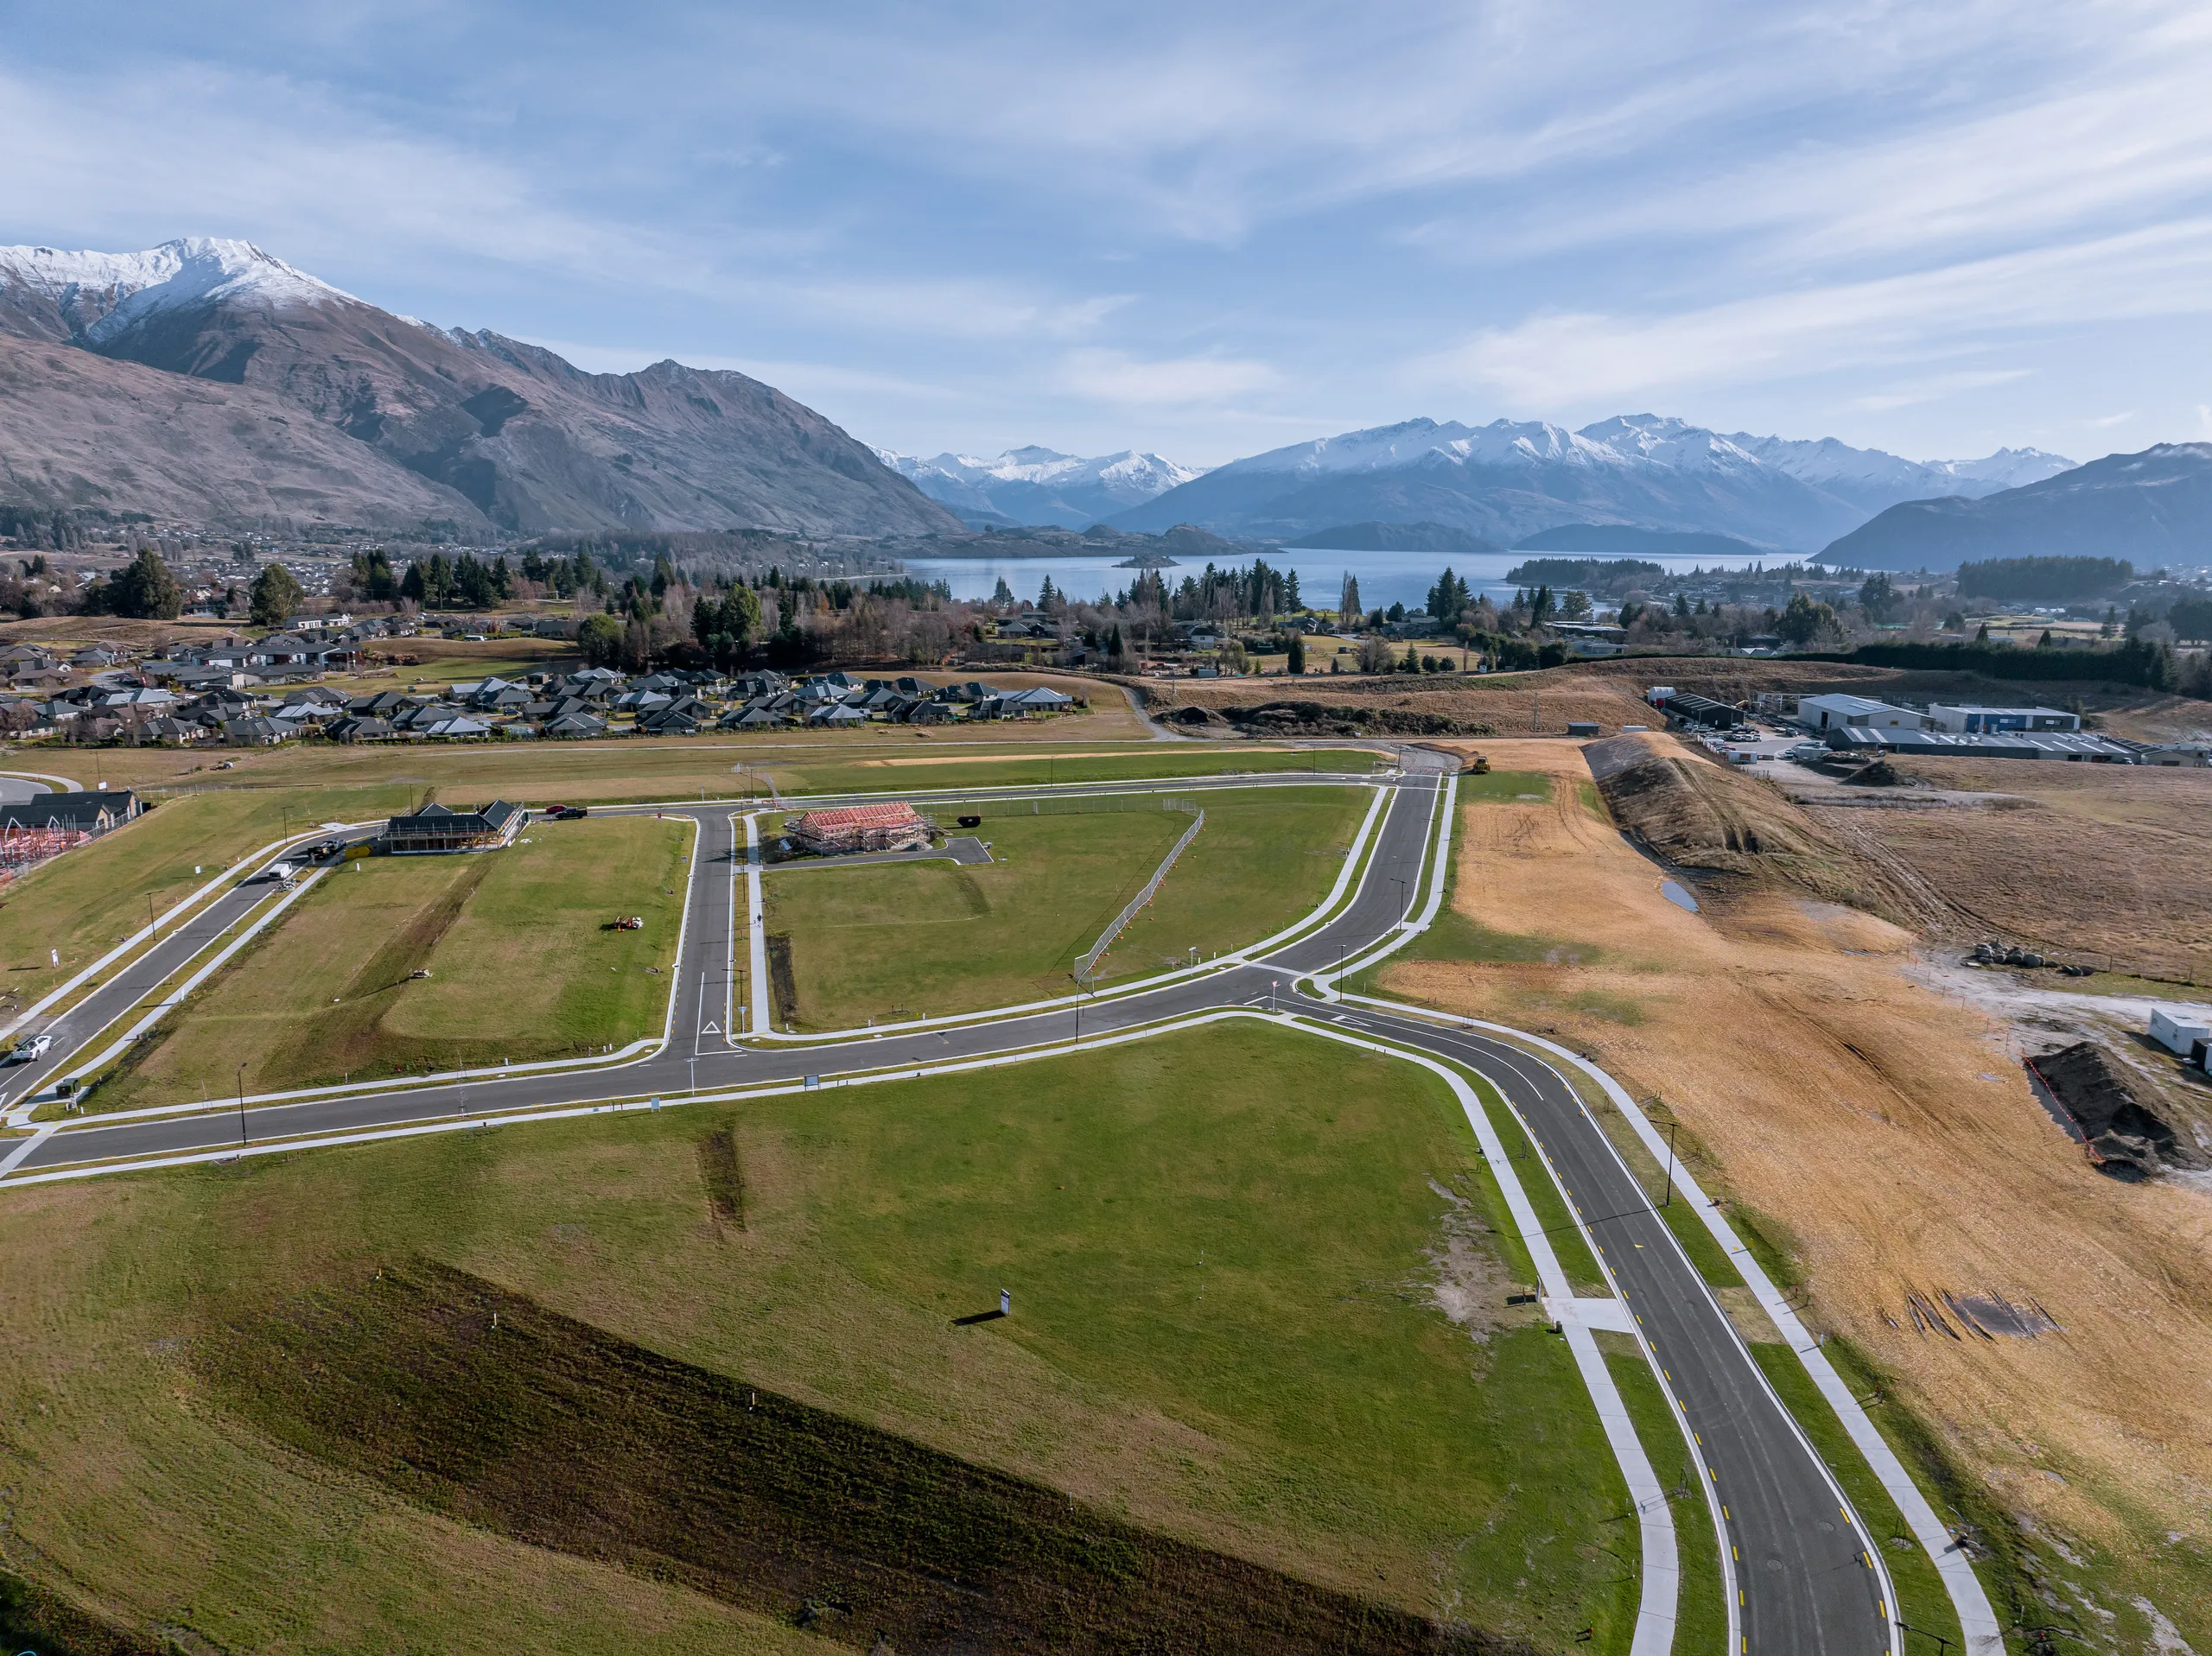
[[(1343, 593), (1345, 573), (1360, 579), (1360, 604), (1369, 610), (1405, 604), (1418, 610), (1429, 599), (1436, 577), (1449, 566), (1467, 581), (1475, 597), (1511, 599), (1513, 581), (1506, 570), (1531, 557), (1604, 557), (1601, 553), (1489, 553), (1482, 557), (1453, 557), (1451, 553), (1332, 553), (1327, 548), (1276, 548), (1261, 553), (1270, 568), (1296, 570), (1298, 597), (1316, 610), (1334, 610)], [(1245, 559), (1250, 562), (1250, 559)], [(1692, 568), (1710, 566), (1712, 559), (1697, 557), (1648, 557), (1648, 564), (1670, 575), (1688, 575)], [(1033, 599), (1051, 575), (1053, 586), (1068, 597), (1095, 599), (1099, 593), (1126, 593), (1139, 575), (1133, 568), (1117, 568), (1110, 557), (909, 557), (907, 570), (925, 581), (947, 581), (956, 599), (987, 599), (998, 590), (1004, 575), (1015, 597)], [(1206, 568), (1206, 559), (1179, 562), (1159, 570), (1172, 590), (1186, 575)]]

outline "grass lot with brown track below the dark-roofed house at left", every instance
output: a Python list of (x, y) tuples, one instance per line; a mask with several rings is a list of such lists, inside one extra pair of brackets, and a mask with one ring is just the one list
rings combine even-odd
[[(100, 1081), (91, 1110), (597, 1052), (657, 1035), (690, 834), (606, 816), (325, 873)], [(617, 913), (644, 931), (613, 931)], [(427, 968), (427, 979), (409, 973)]]

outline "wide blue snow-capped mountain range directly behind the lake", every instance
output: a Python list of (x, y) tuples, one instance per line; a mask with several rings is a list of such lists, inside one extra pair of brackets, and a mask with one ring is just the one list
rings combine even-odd
[(2070, 464), (2035, 449), (1918, 462), (1834, 438), (1723, 436), (1652, 413), (1582, 431), (1407, 420), (1232, 460), (1110, 522), (1139, 531), (1188, 522), (1263, 539), (1356, 522), (1431, 522), (1500, 546), (1568, 524), (1619, 524), (1803, 555), (1902, 500), (1986, 495)]

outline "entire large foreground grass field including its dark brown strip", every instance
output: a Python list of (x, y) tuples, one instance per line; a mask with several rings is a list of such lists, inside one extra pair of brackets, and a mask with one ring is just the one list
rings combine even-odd
[[(1626, 1495), (1564, 1344), (1502, 1307), (1471, 1152), (1418, 1070), (1212, 1028), (9, 1192), (9, 1565), (192, 1647), (865, 1649), (860, 1592), (1020, 1508), (962, 1614), (1172, 1563), (1199, 1610), (1378, 1605), (1345, 1649), (1409, 1612), (1621, 1652)], [(765, 1448), (759, 1417), (816, 1475), (668, 1459)], [(854, 1477), (936, 1497), (856, 1514)], [(889, 1572), (763, 1574), (739, 1497)]]

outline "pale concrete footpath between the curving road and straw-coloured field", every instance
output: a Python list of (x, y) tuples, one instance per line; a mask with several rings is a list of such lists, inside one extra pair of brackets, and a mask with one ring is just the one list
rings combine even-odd
[[(1557, 1041), (1548, 1041), (1540, 1035), (1528, 1035), (1526, 1030), (1515, 1030), (1506, 1024), (1489, 1024), (1480, 1017), (1460, 1017), (1458, 1013), (1438, 1013), (1427, 1006), (1402, 1006), (1398, 1002), (1383, 1002), (1371, 995), (1345, 995), (1345, 999), (1360, 1002), (1365, 1006), (1387, 1008), (1400, 1015), (1418, 1015), (1418, 1017), (1440, 1019), (1447, 1024), (1460, 1024), (1467, 1028), (1480, 1028), (1484, 1033), (1511, 1039), (1520, 1046), (1533, 1046), (1544, 1052), (1551, 1052), (1553, 1057), (1573, 1063), (1577, 1070), (1597, 1081), (1597, 1086), (1604, 1088), (1606, 1099), (1610, 1099), (1613, 1108), (1621, 1112), (1621, 1117), (1628, 1121), (1630, 1130), (1637, 1134), (1644, 1147), (1659, 1159), (1668, 1159), (1666, 1139), (1650, 1123), (1650, 1117), (1644, 1114), (1644, 1108), (1628, 1094), (1628, 1088), (1624, 1088), (1619, 1081), (1615, 1081), (1610, 1075), (1597, 1068), (1590, 1059), (1582, 1057), (1568, 1046), (1559, 1046)], [(1606, 1143), (1610, 1145), (1613, 1141), (1606, 1139)], [(1619, 1150), (1615, 1150), (1613, 1154), (1619, 1156)], [(1626, 1167), (1626, 1161), (1621, 1165)], [(1728, 1223), (1728, 1216), (1719, 1209), (1714, 1198), (1705, 1196), (1703, 1187), (1690, 1172), (1681, 1167), (1679, 1161), (1674, 1161), (1674, 1183), (1683, 1187), (1683, 1194), (1690, 1198), (1690, 1209), (1699, 1216), (1699, 1220), (1703, 1220), (1705, 1229), (1712, 1234), (1712, 1240), (1721, 1245), (1730, 1262), (1750, 1285), (1752, 1296), (1759, 1300), (1759, 1307), (1767, 1313), (1774, 1327), (1781, 1329), (1783, 1340), (1790, 1342), (1790, 1349), (1796, 1353), (1798, 1362), (1805, 1364), (1805, 1371), (1812, 1375), (1814, 1386), (1827, 1400), (1829, 1408), (1836, 1411), (1836, 1417), (1843, 1422), (1843, 1428), (1849, 1435), (1851, 1444), (1858, 1448), (1860, 1455), (1865, 1455), (1867, 1466), (1880, 1479), (1882, 1490), (1889, 1495), (1889, 1499), (1898, 1503), (1898, 1512), (1905, 1514), (1905, 1521), (1911, 1528), (1913, 1539), (1936, 1563), (1936, 1572), (1942, 1576), (1944, 1592), (1949, 1594), (1951, 1607), (1958, 1614), (1960, 1632), (1964, 1634), (1966, 1641), (1966, 1656), (2002, 1656), (2004, 1652), (2002, 1627), (1997, 1623), (1995, 1612), (1989, 1605), (1989, 1594), (1982, 1590), (1982, 1579), (1973, 1574), (1973, 1563), (1966, 1559), (1964, 1548), (1944, 1528), (1942, 1519), (1936, 1517), (1936, 1508), (1929, 1503), (1927, 1495), (1920, 1492), (1920, 1486), (1913, 1481), (1911, 1472), (1905, 1470), (1905, 1461), (1900, 1461), (1896, 1450), (1889, 1448), (1889, 1439), (1880, 1435), (1874, 1419), (1858, 1404), (1858, 1397), (1851, 1395), (1851, 1388), (1843, 1384), (1843, 1377), (1827, 1360), (1827, 1353), (1820, 1351), (1818, 1342), (1805, 1329), (1805, 1322), (1798, 1318), (1796, 1311), (1790, 1309), (1790, 1302), (1783, 1298), (1781, 1289), (1774, 1287), (1774, 1278), (1767, 1276), (1759, 1258), (1743, 1245), (1743, 1238), (1736, 1236), (1734, 1227)], [(1796, 1422), (1796, 1417), (1790, 1415), (1787, 1406), (1783, 1406), (1783, 1413), (1792, 1422)], [(1803, 1428), (1798, 1428), (1798, 1435), (1803, 1437)], [(1818, 1453), (1814, 1455), (1814, 1459), (1820, 1461)], [(1820, 1461), (1820, 1466), (1825, 1468), (1827, 1461)], [(1849, 1501), (1845, 1501), (1845, 1506), (1849, 1506)], [(1854, 1521), (1858, 1519), (1854, 1517)], [(1860, 1530), (1865, 1530), (1863, 1523)], [(1882, 1579), (1887, 1603), (1891, 1605), (1893, 1612), (1891, 1621), (1898, 1621), (1902, 1612), (1898, 1612), (1896, 1587), (1889, 1581), (1889, 1572), (1882, 1563), (1880, 1550), (1874, 1548), (1869, 1541), (1867, 1552), (1874, 1559), (1876, 1570)]]

